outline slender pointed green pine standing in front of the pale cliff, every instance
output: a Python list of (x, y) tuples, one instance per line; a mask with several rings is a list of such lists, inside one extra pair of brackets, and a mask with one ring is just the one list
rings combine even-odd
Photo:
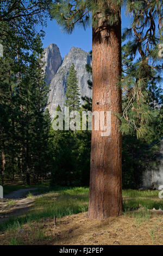
[(77, 71), (74, 68), (74, 64), (70, 68), (70, 73), (67, 79), (67, 90), (66, 90), (66, 106), (71, 111), (78, 111), (80, 108), (80, 93), (78, 88)]

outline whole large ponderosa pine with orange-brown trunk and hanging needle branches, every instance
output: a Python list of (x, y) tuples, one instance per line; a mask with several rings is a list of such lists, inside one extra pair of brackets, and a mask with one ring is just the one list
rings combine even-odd
[[(122, 139), (119, 130), (136, 130), (137, 136), (147, 132), (149, 120), (153, 118), (143, 102), (145, 83), (155, 76), (151, 59), (156, 59), (158, 42), (161, 37), (162, 3), (161, 1), (126, 1), (127, 12), (133, 16), (129, 33), (134, 33), (131, 47), (138, 52), (141, 60), (135, 69), (133, 87), (128, 94), (127, 108), (122, 118), (121, 87), (118, 87), (122, 72), (121, 59), (121, 4), (115, 0), (76, 0), (58, 1), (53, 5), (52, 14), (65, 31), (71, 33), (74, 26), (92, 25), (92, 75), (93, 97), (92, 111), (111, 111), (111, 135), (101, 137), (101, 131), (92, 131), (91, 178), (90, 178), (90, 218), (106, 218), (119, 215), (122, 211)], [(156, 37), (155, 22), (158, 19), (159, 36)], [(159, 40), (158, 40), (159, 39)], [(151, 47), (151, 45), (153, 47)], [(155, 67), (154, 67), (155, 68)], [(146, 78), (147, 76), (147, 78)], [(131, 74), (127, 83), (131, 81)], [(121, 85), (122, 85), (121, 83)], [(135, 106), (132, 104), (135, 101)], [(139, 106), (137, 111), (136, 105)], [(143, 111), (142, 111), (142, 109)], [(129, 110), (129, 111), (128, 111)], [(135, 111), (135, 113), (134, 113)], [(127, 112), (130, 114), (130, 118)], [(117, 118), (118, 117), (118, 118)], [(135, 120), (136, 123), (135, 123)]]

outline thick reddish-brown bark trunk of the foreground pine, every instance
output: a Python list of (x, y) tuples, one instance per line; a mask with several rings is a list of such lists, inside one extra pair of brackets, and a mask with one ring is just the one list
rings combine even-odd
[(122, 211), (122, 138), (115, 116), (122, 111), (122, 92), (117, 86), (122, 62), (121, 15), (116, 26), (101, 19), (93, 29), (92, 61), (92, 111), (111, 112), (110, 136), (92, 130), (89, 218), (103, 219)]

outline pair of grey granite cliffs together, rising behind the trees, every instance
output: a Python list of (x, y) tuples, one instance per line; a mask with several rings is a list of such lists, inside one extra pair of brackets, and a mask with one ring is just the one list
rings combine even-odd
[(78, 86), (80, 90), (80, 102), (83, 96), (92, 97), (87, 81), (91, 80), (91, 74), (86, 71), (85, 65), (91, 64), (89, 53), (80, 48), (72, 47), (70, 52), (61, 62), (61, 56), (57, 45), (51, 44), (45, 49), (45, 73), (49, 84), (48, 109), (51, 117), (54, 117), (55, 109), (60, 105), (64, 110), (67, 77), (72, 63), (77, 70)]

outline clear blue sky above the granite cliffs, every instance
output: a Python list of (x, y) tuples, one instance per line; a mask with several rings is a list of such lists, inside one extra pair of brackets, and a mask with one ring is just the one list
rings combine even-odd
[[(124, 14), (122, 9), (122, 30), (129, 26), (130, 19)], [(43, 39), (43, 47), (47, 47), (49, 44), (57, 44), (62, 58), (70, 52), (71, 47), (79, 47), (84, 51), (92, 50), (92, 29), (87, 28), (86, 31), (82, 27), (76, 27), (73, 33), (62, 33), (61, 28), (53, 20), (48, 20), (47, 27), (43, 28), (45, 31), (45, 38)]]

